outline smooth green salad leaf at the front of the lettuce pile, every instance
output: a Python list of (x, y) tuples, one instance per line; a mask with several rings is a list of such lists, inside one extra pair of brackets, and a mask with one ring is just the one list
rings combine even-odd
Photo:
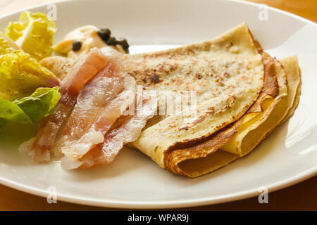
[(58, 87), (39, 88), (31, 96), (20, 100), (8, 101), (0, 98), (0, 126), (4, 122), (30, 124), (51, 115), (58, 104), (61, 94)]

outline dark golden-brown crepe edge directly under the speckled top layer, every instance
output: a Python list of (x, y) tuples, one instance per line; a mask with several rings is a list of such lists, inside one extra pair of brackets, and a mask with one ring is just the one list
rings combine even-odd
[[(190, 174), (188, 174), (188, 172), (184, 172), (184, 165), (187, 165), (187, 167), (189, 166), (188, 162), (185, 163), (184, 161), (191, 160), (190, 162), (193, 163), (193, 159), (205, 158), (207, 155), (211, 155), (211, 153), (216, 153), (216, 151), (220, 147), (222, 147), (225, 143), (229, 143), (230, 140), (237, 134), (237, 129), (242, 126), (247, 117), (254, 117), (255, 115), (261, 113), (261, 104), (263, 103), (263, 101), (266, 101), (266, 96), (272, 96), (273, 98), (278, 96), (278, 79), (274, 71), (274, 61), (266, 53), (262, 53), (262, 58), (265, 71), (264, 86), (259, 98), (251, 106), (251, 108), (249, 108), (246, 115), (244, 115), (244, 117), (242, 117), (234, 124), (225, 127), (218, 133), (210, 136), (208, 139), (206, 139), (206, 141), (203, 141), (189, 148), (178, 149), (177, 146), (170, 148), (168, 151), (166, 151), (166, 160), (164, 162), (164, 167), (166, 169), (168, 169), (170, 172), (187, 176), (201, 175), (201, 169), (199, 169), (199, 171), (195, 171), (192, 169), (193, 171)], [(220, 155), (220, 153), (217, 153), (216, 155)], [(236, 157), (232, 156), (232, 159), (235, 158)], [(206, 159), (204, 159), (203, 161), (206, 162)], [(215, 169), (213, 164), (209, 164), (209, 167), (208, 165), (205, 165), (205, 167), (206, 168), (203, 169), (204, 173), (211, 172), (213, 169)], [(187, 170), (188, 169), (185, 169), (185, 171)]]

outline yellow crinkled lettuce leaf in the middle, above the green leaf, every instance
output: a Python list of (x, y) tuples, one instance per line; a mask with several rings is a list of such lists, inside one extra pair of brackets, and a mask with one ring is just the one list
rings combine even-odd
[(30, 96), (38, 87), (59, 85), (58, 78), (23, 51), (0, 55), (0, 98)]

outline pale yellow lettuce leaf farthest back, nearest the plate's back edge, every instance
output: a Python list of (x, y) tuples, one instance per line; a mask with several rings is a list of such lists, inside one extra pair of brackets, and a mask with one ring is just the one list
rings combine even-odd
[(4, 33), (23, 51), (33, 58), (42, 60), (51, 56), (56, 25), (44, 13), (24, 11), (18, 22), (8, 24)]

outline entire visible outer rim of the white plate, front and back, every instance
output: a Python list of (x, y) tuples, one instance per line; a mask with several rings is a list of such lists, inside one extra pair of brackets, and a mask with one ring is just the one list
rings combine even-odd
[[(77, 0), (62, 0), (62, 1), (51, 1), (49, 3), (44, 4), (37, 4), (35, 6), (30, 6), (26, 8), (22, 8), (18, 11), (13, 11), (10, 13), (5, 13), (4, 15), (0, 16), (0, 20), (6, 18), (8, 16), (21, 13), (22, 11), (32, 10), (34, 8), (39, 8), (43, 6), (47, 6), (48, 4), (63, 4), (65, 2), (77, 1)], [(82, 0), (85, 1), (85, 0)], [(222, 0), (223, 1), (223, 0)], [(238, 4), (245, 4), (250, 6), (261, 6), (264, 8), (268, 8), (269, 10), (282, 13), (283, 15), (295, 18), (297, 20), (302, 20), (304, 23), (308, 23), (313, 25), (317, 29), (317, 23), (313, 22), (312, 20), (303, 18), (302, 16), (295, 15), (293, 13), (289, 13), (287, 11), (282, 11), (278, 8), (273, 8), (266, 4), (257, 4), (250, 1), (242, 1), (242, 0), (225, 0), (229, 2), (235, 2)], [(278, 191), (282, 188), (287, 188), (294, 184), (298, 184), (306, 179), (309, 179), (313, 176), (317, 175), (317, 165), (311, 167), (310, 169), (304, 170), (304, 172), (300, 172), (294, 176), (291, 176), (287, 179), (283, 179), (282, 181), (275, 181), (275, 183), (271, 183), (267, 185), (268, 192), (272, 193), (273, 191)], [(29, 193), (32, 195), (37, 195), (43, 198), (47, 198), (49, 192), (43, 191), (39, 188), (34, 188), (32, 186), (26, 186), (23, 184), (19, 184), (15, 181), (11, 181), (8, 179), (4, 179), (0, 176), (0, 184), (7, 186), (9, 188), (13, 188), (18, 191), (23, 191), (25, 193)], [(217, 197), (205, 197), (205, 198), (195, 198), (193, 200), (165, 200), (164, 202), (160, 201), (132, 201), (132, 200), (113, 200), (110, 198), (104, 198), (103, 200), (96, 200), (92, 198), (85, 198), (85, 197), (76, 197), (71, 195), (63, 195), (57, 193), (57, 200), (66, 202), (66, 203), (75, 203), (78, 205), (89, 205), (95, 207), (111, 207), (111, 208), (118, 208), (118, 209), (170, 209), (170, 208), (184, 208), (184, 207), (198, 207), (203, 205), (214, 205), (219, 203), (228, 203), (236, 200), (242, 200), (246, 198), (252, 198), (256, 195), (259, 195), (259, 191), (256, 188), (249, 189), (248, 191), (240, 191), (238, 193), (231, 193), (226, 195), (220, 195)]]

